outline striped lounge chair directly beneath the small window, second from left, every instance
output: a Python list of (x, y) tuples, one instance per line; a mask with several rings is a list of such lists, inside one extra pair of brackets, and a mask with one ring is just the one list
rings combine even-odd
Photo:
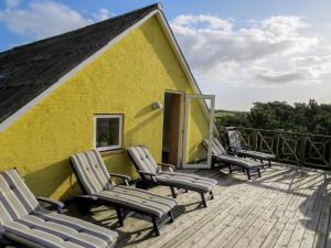
[[(124, 225), (125, 213), (135, 212), (151, 217), (153, 230), (159, 236), (159, 227), (173, 222), (172, 209), (177, 201), (129, 185), (127, 175), (108, 173), (97, 150), (79, 152), (71, 157), (72, 165), (83, 196), (77, 202), (102, 203), (115, 207), (119, 224)], [(120, 177), (126, 185), (115, 185), (113, 177)]]

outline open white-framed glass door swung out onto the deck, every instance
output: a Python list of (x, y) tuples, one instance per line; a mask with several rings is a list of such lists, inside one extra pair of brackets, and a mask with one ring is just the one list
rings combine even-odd
[[(211, 143), (213, 139), (214, 129), (214, 107), (215, 107), (215, 96), (214, 95), (200, 95), (200, 94), (188, 94), (185, 95), (185, 116), (184, 116), (184, 136), (183, 136), (183, 157), (182, 157), (182, 168), (183, 169), (211, 169), (212, 166), (212, 151), (202, 147), (202, 139), (197, 140), (194, 137), (194, 128), (196, 128), (196, 120), (192, 119), (193, 115), (192, 106), (207, 105), (209, 111), (202, 118), (207, 118), (207, 131), (204, 131), (203, 139), (206, 139)], [(207, 109), (207, 108), (206, 108)], [(196, 118), (196, 117), (195, 117)], [(204, 128), (205, 129), (205, 128)], [(201, 133), (200, 133), (201, 136)], [(196, 136), (197, 137), (197, 136)], [(192, 141), (193, 140), (193, 141)], [(210, 145), (209, 145), (210, 147)], [(196, 155), (192, 155), (192, 153)], [(197, 155), (199, 154), (199, 155)]]

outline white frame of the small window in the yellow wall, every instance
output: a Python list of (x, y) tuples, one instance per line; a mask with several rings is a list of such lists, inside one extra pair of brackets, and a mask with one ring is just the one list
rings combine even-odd
[[(118, 139), (118, 144), (116, 145), (108, 145), (108, 147), (103, 147), (103, 148), (97, 148), (97, 120), (98, 119), (119, 119), (119, 139)], [(94, 138), (93, 138), (93, 147), (97, 151), (110, 151), (110, 150), (117, 150), (117, 149), (122, 149), (122, 126), (124, 126), (124, 115), (122, 114), (105, 114), (105, 115), (94, 115)]]

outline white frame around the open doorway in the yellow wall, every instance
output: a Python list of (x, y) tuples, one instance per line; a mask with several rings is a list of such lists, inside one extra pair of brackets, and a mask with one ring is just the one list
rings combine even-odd
[[(178, 133), (178, 151), (177, 151), (177, 164), (173, 164), (175, 165), (177, 168), (181, 168), (182, 166), (182, 132), (183, 132), (183, 103), (184, 103), (184, 96), (185, 96), (185, 93), (183, 91), (180, 91), (180, 90), (172, 90), (172, 89), (166, 89), (164, 90), (164, 96), (166, 94), (175, 94), (175, 95), (180, 95), (180, 112), (179, 112), (179, 133)], [(164, 118), (164, 114), (163, 114), (163, 118)]]

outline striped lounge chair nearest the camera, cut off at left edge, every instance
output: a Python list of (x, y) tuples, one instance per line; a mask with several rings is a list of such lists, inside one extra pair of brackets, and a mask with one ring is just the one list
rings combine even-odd
[(116, 231), (41, 207), (39, 201), (54, 204), (58, 212), (64, 205), (35, 198), (14, 169), (0, 172), (0, 235), (20, 247), (106, 248), (116, 244)]

